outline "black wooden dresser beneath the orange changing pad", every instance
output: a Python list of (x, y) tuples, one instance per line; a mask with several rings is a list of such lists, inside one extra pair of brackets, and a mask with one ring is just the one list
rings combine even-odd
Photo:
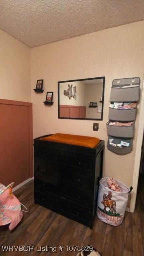
[(41, 137), (34, 139), (35, 203), (92, 229), (104, 141), (89, 148)]

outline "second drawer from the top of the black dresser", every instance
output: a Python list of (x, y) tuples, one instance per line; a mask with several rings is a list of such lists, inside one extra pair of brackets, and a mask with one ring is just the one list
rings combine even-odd
[[(81, 170), (82, 172), (82, 170)], [(74, 167), (67, 165), (57, 165), (49, 161), (49, 164), (35, 163), (35, 177), (49, 181), (50, 177), (55, 178), (56, 182), (66, 181), (67, 183), (75, 183), (91, 188), (93, 178), (88, 175), (81, 175), (81, 172), (76, 172)]]

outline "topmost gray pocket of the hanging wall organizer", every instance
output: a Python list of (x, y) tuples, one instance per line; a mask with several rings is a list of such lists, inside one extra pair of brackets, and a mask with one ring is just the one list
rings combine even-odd
[(139, 100), (139, 86), (129, 88), (111, 88), (110, 101), (133, 102)]

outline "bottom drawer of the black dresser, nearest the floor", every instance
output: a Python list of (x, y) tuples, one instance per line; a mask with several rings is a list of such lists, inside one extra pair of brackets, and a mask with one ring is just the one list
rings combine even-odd
[(91, 212), (88, 208), (54, 194), (42, 193), (35, 190), (35, 203), (59, 213), (65, 211), (86, 220), (90, 218)]

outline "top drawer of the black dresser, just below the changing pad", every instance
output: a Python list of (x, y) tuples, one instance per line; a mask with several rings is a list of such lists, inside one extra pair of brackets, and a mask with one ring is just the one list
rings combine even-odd
[(51, 160), (57, 163), (64, 163), (75, 167), (81, 167), (84, 169), (91, 168), (91, 156), (87, 156), (84, 154), (67, 152), (65, 150), (57, 150), (54, 152), (48, 148), (38, 148), (35, 152), (36, 158), (41, 160)]

